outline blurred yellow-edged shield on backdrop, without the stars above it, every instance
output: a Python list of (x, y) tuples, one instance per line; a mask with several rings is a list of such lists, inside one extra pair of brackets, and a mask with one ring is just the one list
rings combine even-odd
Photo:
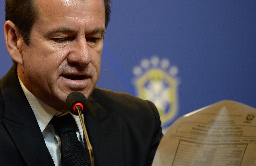
[(161, 68), (152, 68), (134, 81), (137, 96), (152, 101), (159, 112), (162, 127), (168, 127), (178, 111), (178, 81)]

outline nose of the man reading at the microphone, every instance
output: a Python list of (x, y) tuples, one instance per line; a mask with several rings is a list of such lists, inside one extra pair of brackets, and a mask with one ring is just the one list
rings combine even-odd
[(67, 58), (69, 64), (85, 67), (91, 63), (90, 47), (87, 45), (85, 38), (76, 40), (71, 47), (72, 51)]

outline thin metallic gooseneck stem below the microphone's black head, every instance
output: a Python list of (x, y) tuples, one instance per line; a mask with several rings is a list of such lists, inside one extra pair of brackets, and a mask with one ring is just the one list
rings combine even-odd
[(89, 151), (89, 156), (90, 156), (90, 160), (91, 160), (91, 166), (95, 166), (92, 145), (90, 143), (89, 136), (87, 134), (86, 127), (85, 127), (83, 117), (82, 117), (82, 113), (81, 113), (82, 107), (80, 105), (77, 105), (75, 107), (75, 109), (78, 112), (78, 115), (79, 115), (79, 118), (80, 118), (80, 121), (81, 121), (81, 124), (82, 124), (82, 128), (83, 128), (83, 131), (84, 131), (84, 136), (85, 136), (85, 140), (86, 140), (86, 144), (87, 144), (87, 149)]

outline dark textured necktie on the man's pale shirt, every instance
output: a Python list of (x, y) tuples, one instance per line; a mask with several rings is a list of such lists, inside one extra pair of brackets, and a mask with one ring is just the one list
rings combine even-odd
[(78, 140), (76, 135), (76, 122), (70, 115), (53, 117), (51, 122), (57, 130), (61, 140), (62, 166), (91, 166), (89, 152)]

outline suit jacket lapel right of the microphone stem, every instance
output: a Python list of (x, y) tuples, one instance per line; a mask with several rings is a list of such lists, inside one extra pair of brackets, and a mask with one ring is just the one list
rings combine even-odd
[[(95, 97), (95, 94), (92, 96)], [(96, 165), (122, 166), (122, 133), (119, 119), (109, 108), (103, 108), (92, 97), (88, 99), (85, 123), (95, 155)], [(115, 161), (113, 161), (113, 156)]]

